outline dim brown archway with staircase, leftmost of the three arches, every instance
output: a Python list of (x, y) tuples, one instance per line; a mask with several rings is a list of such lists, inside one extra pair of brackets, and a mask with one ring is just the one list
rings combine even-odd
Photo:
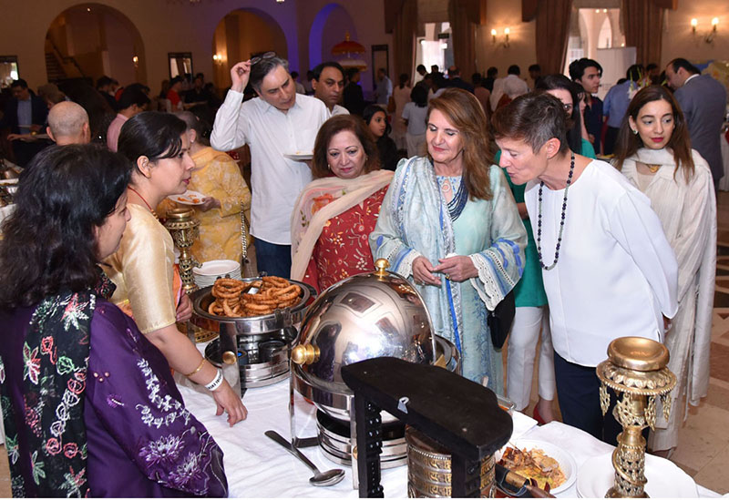
[(107, 75), (121, 85), (147, 83), (139, 30), (108, 5), (79, 4), (57, 15), (46, 32), (45, 52), (49, 82)]

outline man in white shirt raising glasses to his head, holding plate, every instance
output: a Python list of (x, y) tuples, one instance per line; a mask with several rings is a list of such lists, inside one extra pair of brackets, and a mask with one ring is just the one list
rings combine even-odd
[[(251, 147), (251, 234), (258, 270), (288, 278), (293, 202), (312, 180), (309, 166), (291, 156), (311, 154), (328, 112), (319, 99), (296, 94), (288, 62), (273, 53), (232, 66), (231, 80), (210, 144), (220, 151)], [(243, 103), (249, 80), (258, 97)]]

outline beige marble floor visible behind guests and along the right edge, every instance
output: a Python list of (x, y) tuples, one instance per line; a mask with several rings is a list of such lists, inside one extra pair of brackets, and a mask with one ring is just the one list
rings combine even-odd
[[(679, 446), (672, 460), (696, 483), (715, 492), (729, 494), (729, 192), (720, 192), (718, 207), (718, 257), (712, 329), (711, 379), (709, 393), (699, 406), (689, 407), (679, 434)], [(531, 414), (534, 400), (525, 413)], [(4, 451), (4, 446), (0, 445)], [(0, 453), (0, 496), (10, 496), (7, 455)]]

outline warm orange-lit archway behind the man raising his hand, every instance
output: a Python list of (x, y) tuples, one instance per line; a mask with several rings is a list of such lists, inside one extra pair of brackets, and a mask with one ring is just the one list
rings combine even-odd
[(273, 51), (288, 58), (288, 45), (281, 26), (258, 9), (237, 9), (221, 19), (212, 36), (215, 87), (231, 86), (231, 66), (255, 54)]

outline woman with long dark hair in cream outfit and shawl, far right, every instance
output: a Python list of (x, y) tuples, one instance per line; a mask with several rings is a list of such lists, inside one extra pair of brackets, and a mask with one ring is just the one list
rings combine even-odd
[(665, 344), (673, 389), (671, 418), (659, 415), (649, 446), (670, 454), (687, 404), (696, 405), (709, 383), (714, 274), (716, 199), (706, 161), (691, 148), (683, 112), (663, 87), (643, 88), (632, 98), (622, 122), (615, 166), (651, 199), (678, 260), (679, 309)]

